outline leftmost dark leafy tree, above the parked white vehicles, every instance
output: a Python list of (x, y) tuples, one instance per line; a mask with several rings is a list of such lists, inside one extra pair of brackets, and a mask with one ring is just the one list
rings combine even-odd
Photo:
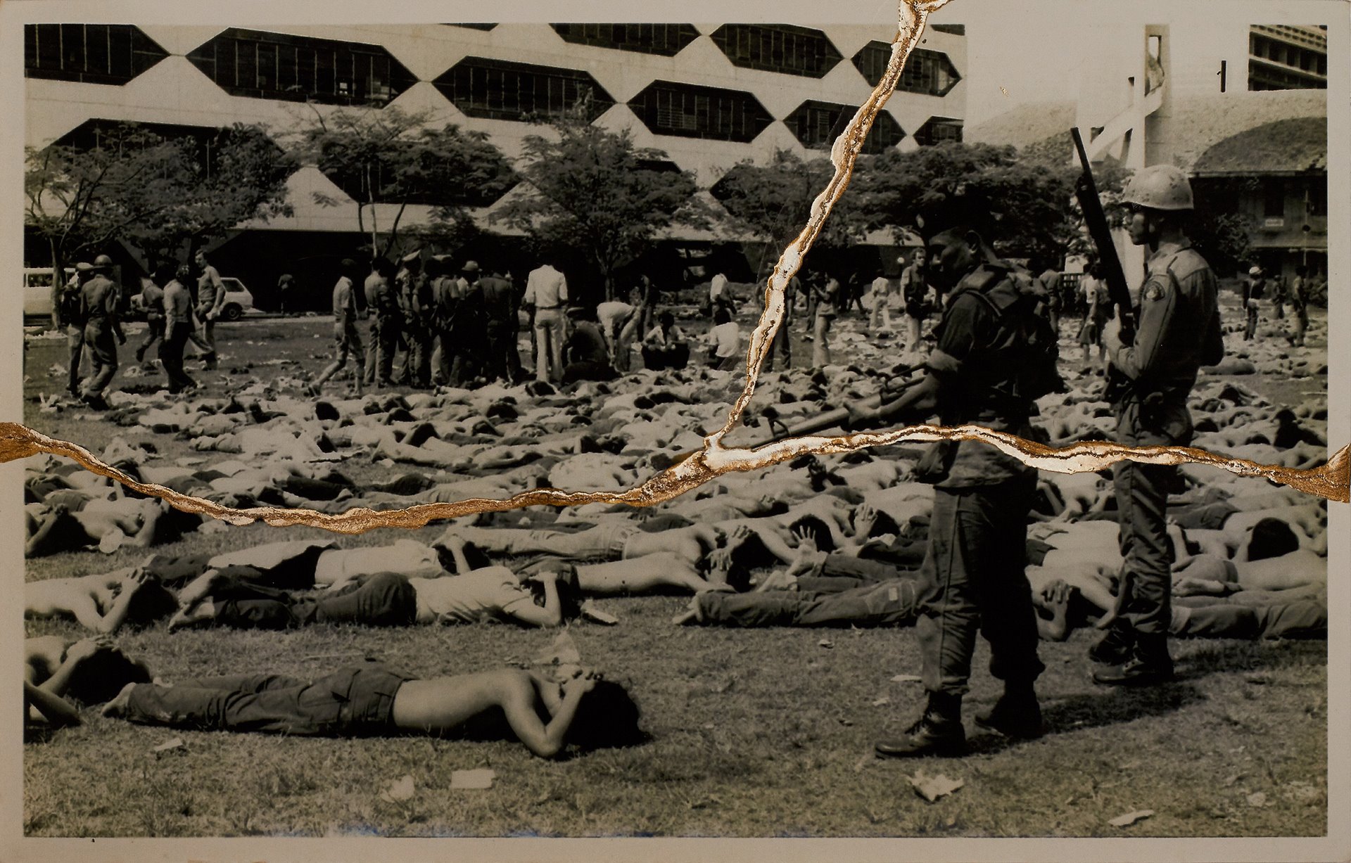
[(115, 240), (173, 255), (184, 242), (290, 212), (293, 163), (262, 127), (236, 124), (211, 140), (119, 123), (100, 128), (89, 149), (27, 149), (24, 224), (47, 240), (54, 290), (70, 261)]

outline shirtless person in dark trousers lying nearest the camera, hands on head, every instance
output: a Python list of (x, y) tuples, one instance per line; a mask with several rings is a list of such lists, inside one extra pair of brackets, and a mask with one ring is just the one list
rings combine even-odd
[(509, 739), (540, 758), (642, 743), (639, 710), (619, 683), (578, 670), (563, 681), (517, 669), (415, 679), (378, 664), (308, 682), (277, 674), (128, 683), (108, 717), (190, 731), (299, 736)]

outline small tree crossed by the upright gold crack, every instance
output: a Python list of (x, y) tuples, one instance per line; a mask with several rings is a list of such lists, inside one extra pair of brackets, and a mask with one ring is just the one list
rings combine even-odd
[[(762, 243), (758, 276), (765, 277), (778, 253), (797, 236), (812, 212), (812, 201), (835, 174), (830, 159), (802, 161), (788, 150), (777, 150), (766, 165), (738, 162), (713, 186), (713, 197), (727, 211), (727, 226)], [(854, 199), (846, 196), (831, 211), (819, 247), (844, 247), (862, 235)]]

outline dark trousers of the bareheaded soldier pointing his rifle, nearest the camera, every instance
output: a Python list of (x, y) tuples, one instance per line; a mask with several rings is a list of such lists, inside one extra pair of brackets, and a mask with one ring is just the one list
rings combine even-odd
[(998, 485), (934, 489), (915, 627), (928, 691), (966, 691), (977, 632), (990, 644), (994, 677), (1029, 683), (1044, 670), (1024, 571), (1035, 490), (1035, 474)]

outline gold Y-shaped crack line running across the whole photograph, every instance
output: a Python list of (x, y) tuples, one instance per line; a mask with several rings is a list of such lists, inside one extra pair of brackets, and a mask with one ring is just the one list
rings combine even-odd
[(835, 173), (821, 194), (812, 203), (807, 227), (784, 250), (766, 285), (765, 311), (759, 324), (751, 334), (751, 343), (747, 351), (746, 388), (730, 409), (727, 423), (721, 429), (704, 439), (701, 450), (688, 454), (680, 463), (638, 488), (627, 492), (534, 489), (507, 500), (469, 498), (454, 504), (419, 504), (404, 509), (381, 512), (350, 509), (336, 515), (315, 512), (312, 509), (273, 506), (236, 509), (199, 497), (180, 494), (159, 485), (139, 482), (122, 470), (95, 458), (84, 447), (49, 438), (18, 423), (0, 423), (0, 462), (28, 458), (39, 452), (50, 452), (74, 459), (86, 470), (109, 477), (136, 492), (161, 497), (185, 512), (208, 515), (231, 524), (263, 521), (276, 527), (309, 525), (339, 533), (362, 533), (374, 528), (419, 528), (434, 520), (534, 505), (627, 504), (631, 506), (651, 506), (678, 497), (719, 474), (734, 470), (748, 471), (769, 467), (808, 452), (848, 452), (885, 444), (951, 439), (982, 440), (1013, 455), (1025, 465), (1055, 473), (1102, 470), (1127, 459), (1151, 465), (1201, 463), (1221, 467), (1239, 475), (1263, 477), (1271, 482), (1289, 485), (1308, 494), (1328, 500), (1351, 501), (1351, 455), (1348, 455), (1351, 447), (1339, 450), (1321, 467), (1302, 470), (1279, 465), (1259, 465), (1193, 447), (1127, 447), (1111, 442), (1085, 442), (1054, 448), (979, 425), (959, 425), (952, 428), (916, 425), (894, 431), (859, 432), (840, 438), (790, 438), (775, 440), (755, 450), (730, 450), (721, 444), (721, 439), (739, 423), (755, 393), (755, 381), (765, 355), (769, 352), (770, 338), (784, 319), (784, 290), (788, 281), (797, 273), (802, 257), (820, 234), (831, 208), (844, 193), (863, 138), (867, 135), (867, 130), (871, 127), (878, 111), (881, 111), (882, 105), (894, 92), (905, 58), (919, 43), (920, 35), (924, 31), (924, 22), (929, 12), (947, 5), (947, 3), (948, 0), (931, 0), (928, 3), (919, 0), (901, 1), (898, 7), (898, 30), (896, 39), (892, 42), (892, 59), (888, 63), (886, 73), (877, 88), (874, 88), (869, 100), (854, 115), (848, 128), (836, 139), (835, 146), (831, 149), (831, 162), (835, 165)]

